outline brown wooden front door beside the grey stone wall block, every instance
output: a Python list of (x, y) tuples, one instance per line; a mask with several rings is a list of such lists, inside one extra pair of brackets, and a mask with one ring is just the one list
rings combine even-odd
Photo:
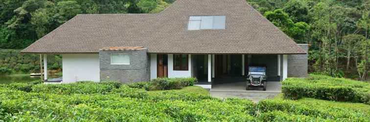
[(167, 54), (157, 54), (157, 77), (167, 78), (168, 68), (167, 68)]

